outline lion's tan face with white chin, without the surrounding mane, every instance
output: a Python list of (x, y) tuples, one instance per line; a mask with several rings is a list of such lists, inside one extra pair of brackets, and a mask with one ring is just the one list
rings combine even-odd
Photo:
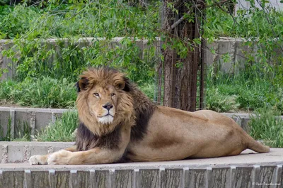
[(105, 87), (96, 85), (88, 91), (88, 109), (99, 123), (112, 123), (116, 114), (118, 95), (119, 92), (110, 84)]

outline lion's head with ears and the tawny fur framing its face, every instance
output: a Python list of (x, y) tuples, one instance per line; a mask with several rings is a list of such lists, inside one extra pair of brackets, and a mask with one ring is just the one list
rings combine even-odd
[(90, 68), (78, 82), (76, 106), (90, 131), (100, 136), (119, 124), (134, 124), (134, 107), (125, 74), (108, 67)]

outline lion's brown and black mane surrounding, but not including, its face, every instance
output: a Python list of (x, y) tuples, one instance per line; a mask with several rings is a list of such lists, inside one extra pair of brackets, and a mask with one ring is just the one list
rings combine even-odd
[[(80, 77), (76, 99), (80, 120), (76, 139), (78, 150), (95, 147), (116, 148), (120, 139), (120, 129), (125, 126), (131, 128), (131, 140), (143, 138), (156, 105), (130, 82), (125, 74), (109, 67), (100, 67), (90, 68)], [(88, 111), (87, 95), (96, 84), (102, 87), (110, 84), (120, 93), (114, 121), (111, 124), (98, 123)]]

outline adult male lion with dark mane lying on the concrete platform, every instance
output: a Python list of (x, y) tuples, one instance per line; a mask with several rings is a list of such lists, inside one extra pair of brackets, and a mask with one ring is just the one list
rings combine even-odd
[(156, 106), (125, 74), (106, 67), (83, 72), (76, 106), (81, 121), (76, 144), (30, 164), (100, 164), (183, 160), (267, 153), (231, 118), (214, 111), (188, 112)]

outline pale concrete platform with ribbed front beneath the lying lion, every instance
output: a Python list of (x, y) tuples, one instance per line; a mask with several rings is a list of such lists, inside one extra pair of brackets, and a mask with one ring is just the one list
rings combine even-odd
[(283, 187), (283, 149), (258, 154), (106, 165), (1, 164), (0, 187)]

